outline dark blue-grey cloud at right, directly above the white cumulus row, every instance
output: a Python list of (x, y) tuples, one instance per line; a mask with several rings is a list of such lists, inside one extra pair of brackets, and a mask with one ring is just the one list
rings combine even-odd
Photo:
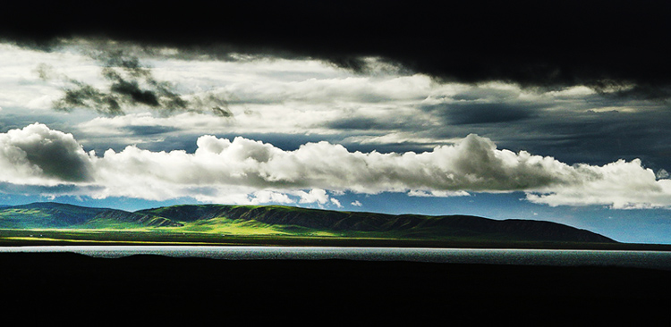
[[(566, 164), (603, 165), (640, 158), (658, 172), (671, 167), (668, 110), (642, 112), (539, 111), (518, 121), (450, 125), (423, 131), (428, 138), (478, 133), (501, 148), (551, 155)], [(446, 116), (445, 119), (448, 119)]]

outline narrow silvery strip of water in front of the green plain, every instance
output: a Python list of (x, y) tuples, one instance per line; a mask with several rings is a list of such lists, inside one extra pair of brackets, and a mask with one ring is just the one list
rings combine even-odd
[(453, 264), (611, 265), (671, 270), (671, 252), (416, 247), (0, 247), (0, 253), (72, 252), (87, 256), (161, 255), (214, 259), (348, 259)]

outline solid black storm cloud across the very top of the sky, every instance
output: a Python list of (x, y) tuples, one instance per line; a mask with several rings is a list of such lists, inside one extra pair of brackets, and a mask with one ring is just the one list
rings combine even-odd
[[(668, 1), (14, 2), (0, 35), (24, 45), (106, 37), (182, 49), (311, 56), (361, 71), (375, 55), (445, 80), (556, 88), (604, 81), (667, 97)], [(123, 23), (120, 23), (123, 21)], [(226, 46), (230, 45), (230, 46)]]

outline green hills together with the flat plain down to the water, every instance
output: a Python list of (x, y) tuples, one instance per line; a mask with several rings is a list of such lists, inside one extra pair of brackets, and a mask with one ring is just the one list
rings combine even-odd
[(137, 212), (56, 203), (0, 208), (0, 246), (259, 245), (630, 248), (549, 222), (389, 215), (278, 205), (173, 205)]

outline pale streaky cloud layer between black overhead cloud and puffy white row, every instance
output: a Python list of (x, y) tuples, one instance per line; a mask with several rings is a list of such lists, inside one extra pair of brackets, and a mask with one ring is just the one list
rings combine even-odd
[[(0, 131), (48, 122), (98, 154), (126, 145), (192, 153), (196, 138), (206, 134), (260, 139), (285, 150), (327, 140), (364, 153), (424, 152), (476, 133), (496, 139), (499, 147), (552, 155), (566, 164), (641, 158), (658, 171), (671, 163), (664, 142), (671, 135), (667, 105), (616, 101), (584, 86), (541, 92), (500, 82), (439, 83), (389, 67), (353, 74), (317, 60), (194, 61), (179, 58), (181, 50), (151, 55), (150, 47), (143, 52), (132, 45), (72, 42), (48, 54), (0, 46), (6, 72)], [(367, 63), (383, 62), (369, 57)], [(58, 80), (81, 82), (65, 96), (89, 101), (94, 110), (49, 110), (72, 87)], [(187, 112), (153, 106), (170, 103), (155, 88), (163, 80), (173, 95), (182, 95)], [(127, 114), (96, 117), (111, 114), (98, 105), (106, 98)]]

